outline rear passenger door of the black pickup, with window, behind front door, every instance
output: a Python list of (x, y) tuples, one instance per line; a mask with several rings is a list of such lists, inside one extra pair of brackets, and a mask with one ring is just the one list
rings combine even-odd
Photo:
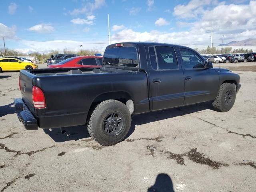
[(182, 106), (184, 75), (178, 64), (174, 47), (150, 46), (148, 54), (152, 110)]

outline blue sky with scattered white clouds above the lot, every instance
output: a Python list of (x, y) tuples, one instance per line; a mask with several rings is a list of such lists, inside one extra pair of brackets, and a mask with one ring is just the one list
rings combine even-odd
[[(255, 38), (256, 1), (2, 0), (0, 37), (20, 51), (104, 50), (111, 42), (154, 41), (214, 45)], [(2, 48), (2, 41), (0, 41)]]

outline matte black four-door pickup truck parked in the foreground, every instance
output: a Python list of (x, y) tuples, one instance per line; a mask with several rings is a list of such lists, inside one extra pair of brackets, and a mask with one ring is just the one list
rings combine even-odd
[(14, 104), (28, 130), (87, 124), (110, 146), (126, 137), (133, 114), (207, 101), (230, 110), (239, 81), (185, 46), (118, 43), (106, 48), (102, 68), (20, 70), (22, 98)]

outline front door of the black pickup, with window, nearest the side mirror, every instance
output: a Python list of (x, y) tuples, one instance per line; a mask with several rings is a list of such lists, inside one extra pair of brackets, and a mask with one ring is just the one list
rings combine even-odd
[(180, 48), (184, 68), (184, 105), (214, 100), (219, 86), (219, 74), (204, 68), (204, 60), (193, 50)]

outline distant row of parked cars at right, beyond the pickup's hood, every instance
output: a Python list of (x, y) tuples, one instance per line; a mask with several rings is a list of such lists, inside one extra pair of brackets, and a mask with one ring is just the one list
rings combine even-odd
[(214, 63), (237, 63), (256, 61), (256, 53), (217, 54), (202, 56), (206, 59), (206, 61)]

